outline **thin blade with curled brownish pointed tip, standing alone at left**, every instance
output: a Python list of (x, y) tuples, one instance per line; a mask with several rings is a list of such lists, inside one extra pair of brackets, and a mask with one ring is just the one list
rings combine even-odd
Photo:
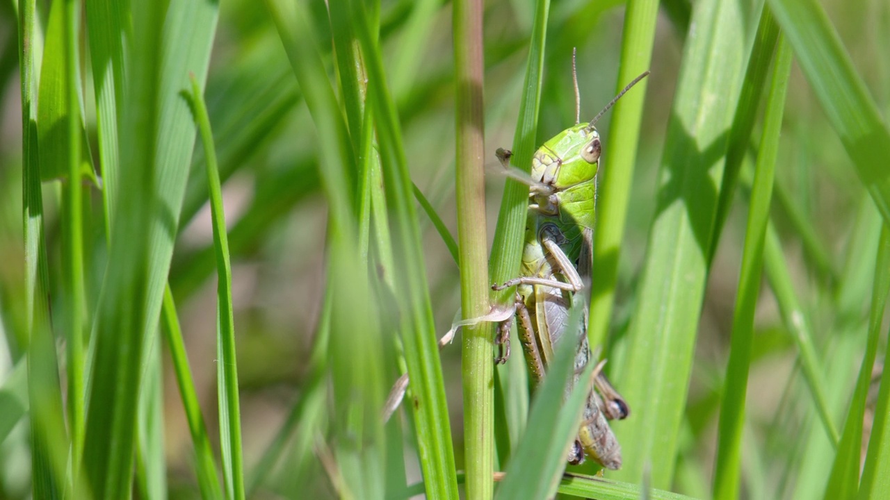
[(204, 105), (201, 86), (191, 76), (191, 103), (195, 121), (204, 145), (207, 167), (207, 187), (210, 190), (210, 212), (213, 218), (214, 248), (216, 250), (216, 388), (219, 398), (220, 443), (223, 455), (223, 482), (226, 495), (243, 499), (244, 465), (241, 450), (241, 410), (239, 407), (238, 363), (235, 352), (235, 320), (232, 313), (231, 262), (229, 238), (226, 234), (223, 188), (216, 164), (214, 136), (210, 118)]

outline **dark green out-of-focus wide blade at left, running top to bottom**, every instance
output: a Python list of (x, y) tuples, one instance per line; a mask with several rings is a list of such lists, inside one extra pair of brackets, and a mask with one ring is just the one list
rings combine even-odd
[[(137, 14), (141, 14), (138, 15)], [(84, 466), (98, 497), (128, 496), (132, 483), (137, 388), (141, 385), (142, 345), (147, 311), (150, 214), (155, 188), (153, 139), (163, 11), (158, 5), (133, 12), (142, 22), (134, 31), (132, 107), (121, 134), (122, 150), (134, 155), (122, 171), (119, 211), (111, 223), (111, 244), (103, 297), (98, 311), (91, 392), (87, 407)], [(146, 210), (146, 207), (152, 209)]]

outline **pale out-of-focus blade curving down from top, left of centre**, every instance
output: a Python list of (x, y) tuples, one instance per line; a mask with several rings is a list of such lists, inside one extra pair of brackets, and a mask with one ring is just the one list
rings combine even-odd
[[(329, 354), (334, 404), (338, 411), (333, 421), (335, 453), (332, 458), (336, 462), (328, 462), (328, 474), (341, 496), (382, 497), (381, 467), (385, 463), (380, 415), (384, 402), (382, 339), (370, 307), (367, 254), (363, 256), (359, 248), (356, 216), (361, 207), (356, 185), (357, 151), (353, 149), (303, 5), (298, 4), (294, 11), (280, 2), (267, 4), (318, 129), (322, 151), (320, 177), (330, 207), (328, 286), (334, 290), (335, 300)], [(337, 18), (355, 13), (342, 3), (332, 3), (330, 9), (331, 16)], [(345, 19), (332, 22), (342, 28), (340, 23), (348, 22)], [(352, 41), (345, 39), (350, 35), (339, 28), (333, 33), (338, 47), (352, 47)], [(337, 57), (352, 58), (352, 54), (352, 50), (347, 49)], [(354, 82), (344, 81), (344, 85), (353, 87)], [(360, 103), (353, 100), (347, 105), (354, 107)], [(351, 109), (349, 114), (356, 117), (356, 121), (362, 117), (358, 109)], [(357, 138), (361, 136), (360, 130), (355, 133)]]

